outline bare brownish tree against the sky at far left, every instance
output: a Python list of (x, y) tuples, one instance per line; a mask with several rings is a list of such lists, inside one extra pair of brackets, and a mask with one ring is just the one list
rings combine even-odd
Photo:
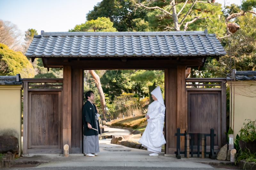
[(22, 33), (18, 26), (10, 21), (0, 19), (0, 43), (7, 45), (14, 51), (24, 52), (21, 41)]

